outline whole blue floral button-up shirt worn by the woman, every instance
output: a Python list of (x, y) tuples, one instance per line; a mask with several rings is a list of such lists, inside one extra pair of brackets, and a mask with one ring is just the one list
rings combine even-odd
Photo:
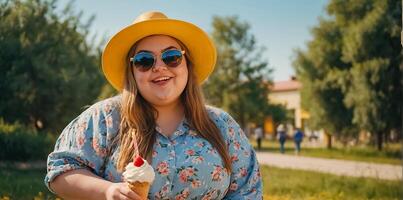
[[(63, 130), (48, 156), (48, 188), (56, 176), (82, 168), (112, 182), (122, 181), (115, 167), (119, 147), (107, 155), (120, 124), (120, 101), (116, 96), (92, 105)], [(226, 112), (206, 108), (226, 141), (232, 172), (227, 173), (216, 149), (186, 120), (170, 137), (157, 128), (152, 153), (156, 176), (149, 199), (262, 199), (259, 164), (248, 138)]]

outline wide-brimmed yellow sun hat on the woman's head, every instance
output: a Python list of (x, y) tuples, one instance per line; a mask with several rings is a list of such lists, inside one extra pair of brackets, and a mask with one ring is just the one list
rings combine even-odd
[(116, 33), (102, 54), (102, 71), (112, 86), (121, 91), (127, 67), (127, 54), (134, 43), (150, 35), (167, 35), (181, 41), (190, 52), (197, 82), (202, 84), (213, 72), (217, 51), (206, 32), (189, 22), (170, 19), (161, 12), (141, 14), (132, 25)]

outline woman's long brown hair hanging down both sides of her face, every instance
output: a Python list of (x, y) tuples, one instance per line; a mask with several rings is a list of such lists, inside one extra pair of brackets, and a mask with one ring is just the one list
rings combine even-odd
[[(188, 81), (180, 99), (184, 106), (185, 117), (190, 123), (190, 128), (196, 130), (197, 134), (206, 139), (216, 148), (224, 162), (228, 173), (231, 172), (231, 160), (224, 139), (215, 123), (210, 119), (200, 85), (194, 73), (191, 52), (185, 45), (175, 39), (183, 50), (186, 51), (185, 59), (188, 67)], [(141, 40), (140, 40), (141, 41)], [(134, 55), (138, 42), (136, 42), (128, 53), (128, 58)], [(118, 135), (120, 146), (117, 169), (123, 171), (124, 167), (131, 161), (134, 155), (140, 154), (143, 158), (151, 161), (153, 145), (156, 140), (155, 119), (158, 112), (138, 92), (134, 79), (133, 68), (126, 68), (126, 77), (122, 91), (121, 123)], [(134, 139), (135, 138), (135, 139)], [(137, 143), (138, 152), (135, 145)]]

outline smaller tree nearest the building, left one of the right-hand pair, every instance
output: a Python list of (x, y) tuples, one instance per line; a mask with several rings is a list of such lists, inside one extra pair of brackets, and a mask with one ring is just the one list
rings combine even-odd
[(331, 136), (346, 141), (357, 134), (352, 124), (352, 109), (344, 105), (343, 90), (338, 83), (343, 76), (338, 69), (349, 68), (341, 60), (341, 31), (330, 20), (320, 19), (312, 29), (314, 40), (308, 43), (307, 51), (296, 51), (294, 67), (303, 87), (302, 107), (309, 111), (312, 128), (324, 129), (331, 148)]

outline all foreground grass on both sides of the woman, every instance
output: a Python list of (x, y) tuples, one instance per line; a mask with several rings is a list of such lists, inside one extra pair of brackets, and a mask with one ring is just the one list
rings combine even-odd
[[(264, 199), (402, 199), (402, 183), (262, 166)], [(55, 199), (43, 184), (45, 170), (0, 169), (0, 199)]]

